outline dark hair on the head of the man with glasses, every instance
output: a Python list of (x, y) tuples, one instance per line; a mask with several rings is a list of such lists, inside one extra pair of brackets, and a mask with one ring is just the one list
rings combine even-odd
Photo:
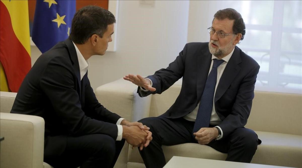
[[(235, 9), (232, 8), (226, 8), (223, 10), (219, 10), (214, 14), (214, 19), (217, 18), (219, 20), (223, 19), (229, 19), (229, 20), (235, 20), (233, 25), (233, 33), (238, 34), (241, 33), (242, 37), (240, 40), (243, 40), (245, 35), (245, 24), (243, 22), (243, 18), (241, 17), (241, 14), (237, 12)], [(213, 19), (213, 21), (214, 21)], [(213, 23), (212, 21), (212, 23)]]

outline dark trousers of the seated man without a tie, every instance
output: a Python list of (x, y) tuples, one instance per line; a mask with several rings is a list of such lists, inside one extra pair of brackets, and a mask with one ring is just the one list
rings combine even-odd
[[(66, 138), (66, 137), (65, 137)], [(52, 138), (54, 139), (54, 138)], [(50, 153), (52, 143), (47, 142), (45, 150)], [(60, 156), (45, 155), (44, 161), (53, 167), (113, 167), (125, 140), (115, 141), (111, 136), (104, 134), (91, 134), (79, 137), (67, 136), (66, 148)], [(56, 151), (53, 151), (56, 152)]]

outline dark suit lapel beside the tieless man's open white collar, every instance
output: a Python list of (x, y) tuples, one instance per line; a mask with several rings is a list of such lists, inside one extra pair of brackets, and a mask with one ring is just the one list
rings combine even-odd
[(72, 61), (73, 70), (76, 73), (76, 77), (78, 79), (77, 92), (79, 94), (79, 97), (81, 98), (81, 77), (80, 77), (79, 60), (78, 60), (78, 56), (76, 54), (76, 48), (73, 45), (72, 41), (69, 39), (65, 40), (65, 44), (67, 45), (67, 48), (69, 51), (69, 58)]

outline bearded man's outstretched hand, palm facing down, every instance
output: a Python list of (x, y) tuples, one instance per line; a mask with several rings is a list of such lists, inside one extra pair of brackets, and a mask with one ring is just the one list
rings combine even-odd
[(137, 86), (142, 87), (143, 89), (149, 90), (151, 92), (156, 91), (156, 89), (151, 86), (151, 82), (148, 79), (145, 79), (140, 75), (129, 74), (129, 75), (124, 76), (123, 78), (125, 80), (128, 80), (128, 81), (136, 84)]

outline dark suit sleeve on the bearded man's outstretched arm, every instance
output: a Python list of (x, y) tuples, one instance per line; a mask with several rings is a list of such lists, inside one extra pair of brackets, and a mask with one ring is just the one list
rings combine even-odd
[(167, 68), (162, 68), (155, 72), (154, 75), (147, 76), (153, 82), (155, 92), (140, 92), (140, 87), (137, 89), (137, 93), (140, 97), (145, 97), (150, 94), (161, 94), (165, 90), (169, 89), (178, 79), (180, 79), (185, 71), (185, 59), (187, 55), (187, 45), (176, 57), (175, 61), (169, 64)]

